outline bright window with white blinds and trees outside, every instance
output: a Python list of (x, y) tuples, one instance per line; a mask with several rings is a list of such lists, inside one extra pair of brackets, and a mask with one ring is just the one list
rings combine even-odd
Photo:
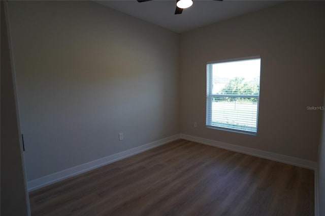
[(206, 126), (257, 132), (261, 57), (207, 64)]

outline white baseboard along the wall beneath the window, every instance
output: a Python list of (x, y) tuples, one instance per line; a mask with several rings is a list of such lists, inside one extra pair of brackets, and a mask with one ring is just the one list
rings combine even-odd
[(307, 168), (307, 169), (311, 169), (311, 170), (316, 170), (316, 168), (317, 168), (317, 163), (314, 161), (308, 161), (308, 160), (304, 160), (304, 159), (300, 159), (300, 158), (280, 155), (280, 154), (269, 152), (269, 151), (248, 148), (248, 147), (244, 147), (244, 146), (240, 146), (240, 145), (219, 142), (219, 141), (215, 141), (215, 140), (190, 136), (190, 135), (186, 135), (186, 134), (181, 134), (180, 138), (186, 139), (189, 141), (206, 144), (206, 145), (223, 148), (223, 149), (228, 149), (228, 150), (232, 150), (232, 151), (236, 151), (236, 152), (240, 152), (240, 153), (244, 153), (246, 155), (256, 156), (259, 158), (269, 159), (272, 161), (277, 161), (277, 162), (281, 162), (281, 163), (285, 163), (285, 164), (303, 167), (303, 168)]

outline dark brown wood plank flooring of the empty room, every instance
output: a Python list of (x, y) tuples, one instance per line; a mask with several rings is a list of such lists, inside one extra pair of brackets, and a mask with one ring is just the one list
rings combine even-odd
[(29, 197), (32, 216), (305, 216), (314, 171), (177, 140)]

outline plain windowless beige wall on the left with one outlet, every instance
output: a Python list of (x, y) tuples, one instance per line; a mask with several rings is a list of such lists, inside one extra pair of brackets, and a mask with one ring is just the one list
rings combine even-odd
[(179, 133), (177, 34), (94, 2), (8, 5), (28, 181)]

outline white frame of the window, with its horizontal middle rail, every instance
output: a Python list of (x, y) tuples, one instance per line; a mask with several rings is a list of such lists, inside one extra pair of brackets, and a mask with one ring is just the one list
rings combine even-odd
[[(259, 68), (259, 91), (258, 95), (218, 95), (212, 94), (212, 65), (218, 63), (229, 63), (231, 61), (244, 61), (244, 60), (253, 60), (253, 59), (260, 59), (261, 64)], [(259, 114), (259, 96), (261, 92), (261, 66), (262, 66), (262, 58), (261, 55), (254, 55), (249, 57), (240, 57), (240, 58), (231, 58), (231, 59), (220, 59), (215, 61), (208, 61), (206, 64), (206, 128), (222, 130), (222, 131), (230, 131), (230, 132), (237, 132), (249, 135), (256, 135), (258, 132), (258, 114)], [(208, 77), (209, 76), (209, 77)], [(208, 83), (209, 81), (209, 83)], [(235, 97), (234, 97), (235, 96)], [(257, 98), (257, 110), (256, 110), (256, 132), (252, 131), (244, 131), (239, 129), (232, 129), (232, 128), (224, 128), (218, 126), (212, 126), (212, 110), (209, 112), (208, 108), (212, 109), (212, 98), (213, 97), (233, 97), (233, 98)], [(209, 115), (210, 113), (210, 115)]]

